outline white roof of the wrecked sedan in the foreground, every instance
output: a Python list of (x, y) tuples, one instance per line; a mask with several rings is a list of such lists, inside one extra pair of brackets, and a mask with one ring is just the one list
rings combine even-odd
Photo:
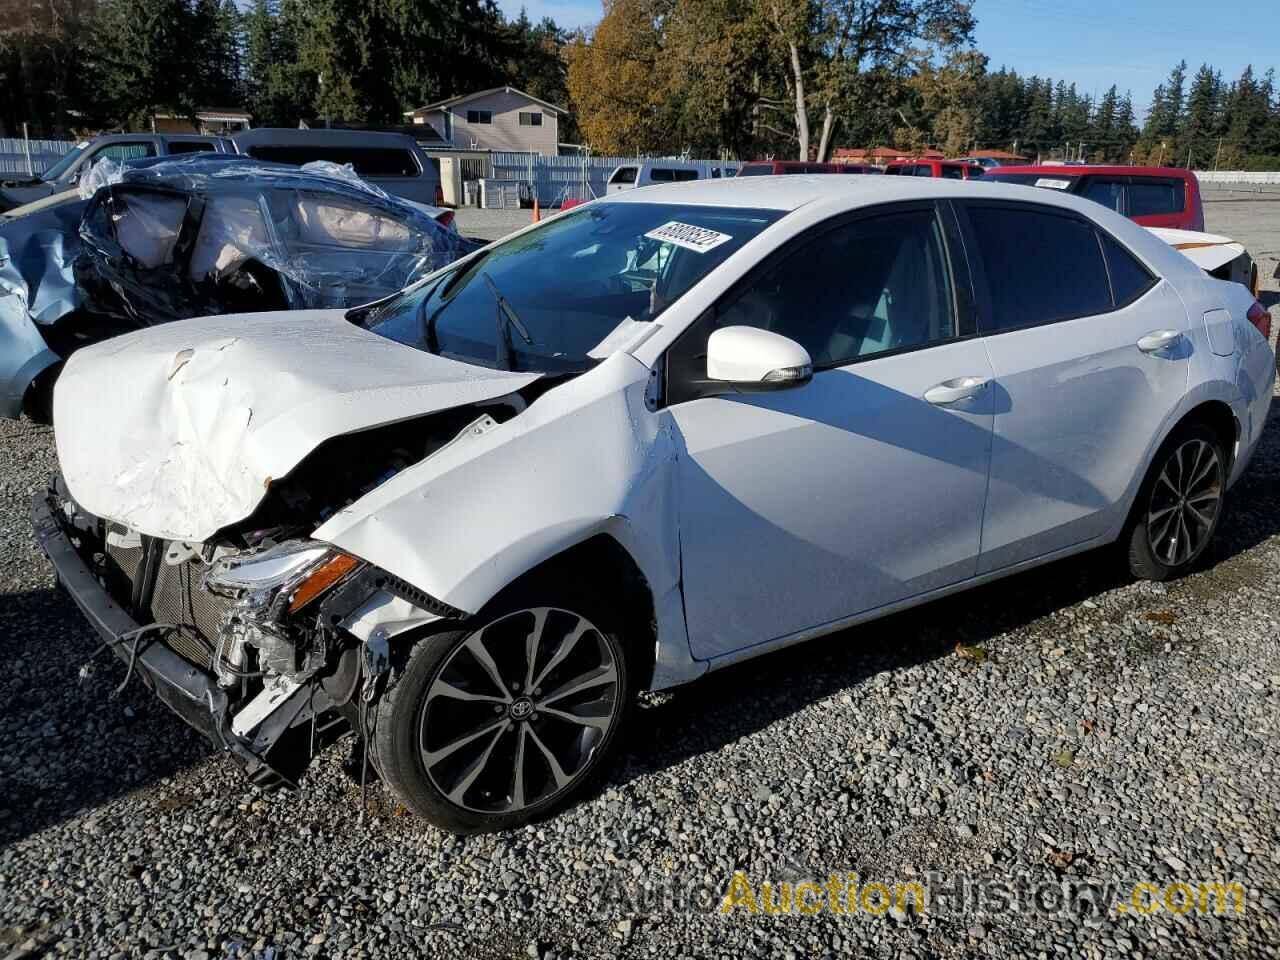
[(829, 174), (782, 174), (776, 177), (728, 177), (722, 179), (660, 183), (640, 189), (609, 193), (599, 204), (680, 204), (755, 210), (799, 210), (813, 202), (858, 209), (908, 200), (1019, 200), (1041, 206), (1061, 206), (1097, 216), (1092, 200), (977, 178), (954, 180), (942, 177), (832, 177)]

